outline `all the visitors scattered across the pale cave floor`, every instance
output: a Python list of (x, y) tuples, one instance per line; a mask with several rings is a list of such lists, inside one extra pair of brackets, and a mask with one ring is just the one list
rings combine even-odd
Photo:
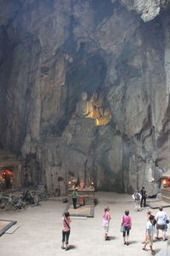
[[(144, 187), (141, 189), (140, 193), (139, 191), (135, 191), (133, 194), (133, 200), (135, 201), (135, 207), (137, 211), (139, 211), (139, 207), (146, 206), (146, 191)], [(72, 196), (73, 201), (73, 207), (76, 208), (77, 206), (77, 191), (75, 190), (73, 192)], [(121, 231), (122, 231), (122, 238), (123, 238), (123, 244), (129, 245), (129, 233), (132, 229), (132, 218), (129, 216), (129, 211), (126, 210), (124, 212), (125, 214), (122, 216), (122, 222), (121, 222)], [(105, 207), (104, 213), (103, 213), (103, 221), (102, 225), (105, 230), (105, 241), (110, 240), (109, 237), (109, 226), (111, 221), (111, 213), (110, 208)], [(62, 249), (68, 250), (68, 242), (69, 242), (69, 236), (71, 232), (71, 218), (70, 213), (65, 212), (62, 218), (63, 222), (63, 228), (62, 228)], [(163, 241), (166, 240), (166, 231), (167, 231), (167, 213), (163, 211), (162, 207), (159, 208), (159, 211), (156, 213), (156, 216), (152, 215), (150, 210), (147, 211), (147, 217), (146, 217), (146, 226), (145, 226), (145, 236), (144, 241), (142, 243), (144, 246), (142, 249), (144, 251), (147, 251), (147, 245), (150, 244), (150, 251), (152, 254), (155, 254), (155, 251), (153, 250), (153, 241), (154, 241), (154, 234), (156, 233), (155, 239), (159, 239), (159, 231), (162, 232), (162, 239)]]

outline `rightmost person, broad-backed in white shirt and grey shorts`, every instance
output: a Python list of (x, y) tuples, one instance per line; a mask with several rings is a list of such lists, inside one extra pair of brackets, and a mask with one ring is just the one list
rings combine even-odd
[(163, 212), (163, 207), (159, 207), (159, 212), (156, 213), (156, 239), (159, 239), (159, 230), (162, 232), (163, 241), (166, 240), (166, 221), (167, 213)]

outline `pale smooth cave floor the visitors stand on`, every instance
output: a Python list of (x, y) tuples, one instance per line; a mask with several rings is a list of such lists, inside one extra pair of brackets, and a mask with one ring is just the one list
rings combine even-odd
[[(13, 234), (0, 237), (1, 256), (59, 256), (69, 255), (115, 255), (136, 256), (150, 255), (150, 251), (142, 250), (141, 241), (144, 239), (145, 212), (134, 211), (131, 195), (98, 192), (98, 205), (94, 210), (94, 218), (73, 218), (71, 223), (70, 250), (65, 252), (61, 246), (61, 215), (65, 204), (58, 200), (41, 201), (39, 207), (29, 207), (27, 210), (16, 212), (0, 211), (3, 219), (17, 220), (20, 228)], [(153, 199), (150, 201), (156, 201)], [(111, 208), (110, 236), (111, 241), (104, 240), (104, 230), (101, 226), (102, 213), (105, 206)], [(127, 247), (122, 244), (120, 225), (122, 214), (129, 209), (133, 227), (130, 231)], [(170, 216), (170, 207), (164, 209)], [(157, 209), (152, 209), (156, 214)], [(161, 235), (161, 234), (160, 234)], [(167, 236), (169, 229), (167, 230)], [(155, 241), (153, 248), (158, 253), (167, 247), (167, 241)]]

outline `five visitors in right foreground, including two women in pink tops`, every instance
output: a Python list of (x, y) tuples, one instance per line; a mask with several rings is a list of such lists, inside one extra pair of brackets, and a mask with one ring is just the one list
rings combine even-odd
[[(109, 238), (109, 225), (111, 220), (110, 208), (105, 207), (103, 213), (103, 227), (105, 230), (105, 240), (110, 240)], [(147, 212), (146, 218), (146, 227), (145, 227), (145, 236), (144, 247), (142, 249), (147, 251), (147, 245), (150, 244), (150, 251), (151, 254), (154, 255), (155, 251), (153, 250), (153, 241), (154, 241), (154, 234), (156, 229), (156, 240), (159, 239), (159, 230), (162, 232), (163, 241), (166, 240), (166, 231), (167, 231), (167, 224), (169, 220), (167, 219), (167, 213), (163, 211), (162, 207), (159, 208), (159, 211), (156, 213), (156, 216), (152, 215), (150, 210)], [(125, 214), (122, 216), (122, 223), (121, 223), (121, 231), (122, 231), (122, 238), (123, 244), (129, 245), (129, 232), (132, 228), (132, 218), (129, 216), (129, 211), (126, 210)]]

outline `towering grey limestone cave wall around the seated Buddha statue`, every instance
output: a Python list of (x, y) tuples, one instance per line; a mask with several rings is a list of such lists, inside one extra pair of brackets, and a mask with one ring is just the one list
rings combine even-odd
[(169, 1), (0, 2), (0, 146), (22, 160), (23, 185), (65, 195), (93, 178), (156, 195), (170, 156)]

